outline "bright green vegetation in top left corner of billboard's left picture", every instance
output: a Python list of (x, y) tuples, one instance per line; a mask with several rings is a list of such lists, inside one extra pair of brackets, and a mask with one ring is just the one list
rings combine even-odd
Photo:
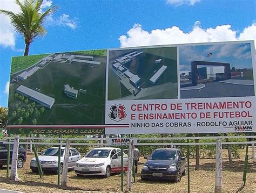
[(23, 70), (34, 65), (36, 62), (39, 62), (41, 59), (48, 55), (49, 54), (12, 57), (11, 74), (14, 74), (19, 70)]

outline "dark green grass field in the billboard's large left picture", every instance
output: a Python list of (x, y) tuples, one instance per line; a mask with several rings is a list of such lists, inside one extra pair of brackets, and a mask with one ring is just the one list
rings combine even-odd
[[(100, 58), (96, 56), (97, 59)], [(37, 118), (37, 124), (103, 124), (105, 115), (105, 62), (99, 67), (69, 65), (51, 62), (45, 68), (38, 70), (23, 82), (11, 85), (9, 97), (10, 115), (15, 109), (17, 99), (16, 88), (22, 84), (31, 89), (39, 88), (45, 95), (55, 98), (51, 109), (46, 109)], [(78, 92), (77, 99), (67, 97), (63, 87), (69, 84), (75, 89), (84, 89), (86, 94)], [(41, 108), (37, 104), (38, 108)], [(31, 124), (23, 119), (22, 124)], [(12, 119), (10, 119), (10, 124)]]

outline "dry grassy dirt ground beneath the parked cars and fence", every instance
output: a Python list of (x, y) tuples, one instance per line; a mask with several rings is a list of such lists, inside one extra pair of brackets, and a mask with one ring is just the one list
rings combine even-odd
[[(241, 159), (233, 159), (228, 163), (227, 153), (223, 152), (223, 192), (256, 192), (256, 166), (255, 159), (250, 159), (246, 186), (243, 187), (242, 174), (244, 169), (244, 150)], [(251, 148), (250, 148), (251, 158)], [(102, 177), (77, 177), (74, 171), (68, 173), (68, 186), (57, 186), (56, 174), (45, 174), (40, 178), (33, 174), (29, 163), (33, 155), (28, 155), (24, 168), (18, 170), (21, 182), (11, 182), (6, 179), (6, 167), (0, 169), (0, 188), (23, 192), (82, 192), (82, 191), (105, 191), (120, 192), (120, 174), (111, 175), (109, 178)], [(141, 158), (138, 172), (142, 169), (145, 159)], [(190, 190), (191, 192), (214, 192), (215, 160), (200, 159), (200, 170), (194, 170), (195, 160), (190, 159)], [(124, 177), (126, 180), (126, 175)], [(124, 181), (125, 184), (126, 181)], [(139, 174), (136, 183), (132, 184), (132, 192), (187, 192), (187, 175), (181, 178), (179, 183), (169, 181), (142, 181)]]

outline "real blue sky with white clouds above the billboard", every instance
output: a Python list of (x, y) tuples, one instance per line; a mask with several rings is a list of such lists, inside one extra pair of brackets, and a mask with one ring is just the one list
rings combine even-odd
[[(23, 0), (21, 0), (23, 1)], [(44, 0), (58, 5), (29, 54), (216, 41), (256, 41), (256, 0)], [(0, 9), (19, 11), (14, 0)], [(0, 15), (0, 106), (7, 106), (12, 56), (24, 41)]]

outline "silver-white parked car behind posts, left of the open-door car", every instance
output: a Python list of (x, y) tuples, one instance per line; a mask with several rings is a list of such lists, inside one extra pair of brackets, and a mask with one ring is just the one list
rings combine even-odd
[[(43, 171), (58, 171), (58, 149), (59, 147), (51, 147), (46, 149), (40, 156), (38, 156), (39, 163)], [(60, 172), (63, 169), (65, 155), (65, 147), (62, 147), (60, 150)], [(71, 147), (69, 151), (69, 162), (68, 169), (73, 169), (76, 162), (81, 158), (80, 153), (76, 148)], [(32, 158), (30, 161), (30, 169), (32, 172), (38, 172), (36, 158)]]

